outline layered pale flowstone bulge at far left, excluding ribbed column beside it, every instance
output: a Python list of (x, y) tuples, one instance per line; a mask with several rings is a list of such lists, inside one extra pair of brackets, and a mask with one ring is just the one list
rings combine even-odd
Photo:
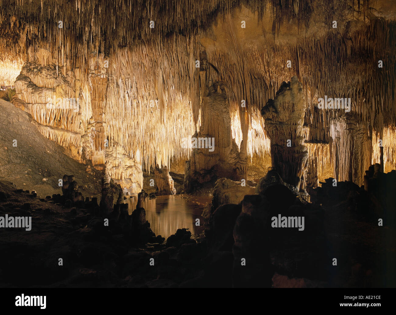
[(30, 55), (15, 81), (11, 100), (37, 122), (42, 135), (68, 147), (78, 159), (81, 114), (79, 108), (79, 70), (57, 66), (49, 51), (39, 49)]

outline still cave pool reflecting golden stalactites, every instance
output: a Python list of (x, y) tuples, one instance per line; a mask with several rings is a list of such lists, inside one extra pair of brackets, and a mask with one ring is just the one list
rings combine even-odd
[[(136, 208), (137, 197), (129, 198), (128, 196), (124, 202), (128, 203), (129, 214), (131, 214)], [(181, 228), (188, 228), (196, 236), (204, 231), (204, 218), (201, 216), (203, 207), (189, 203), (187, 199), (174, 199), (169, 196), (147, 198), (143, 207), (146, 210), (146, 220), (150, 222), (151, 230), (156, 235), (167, 238)], [(195, 225), (197, 218), (200, 219), (200, 226)]]

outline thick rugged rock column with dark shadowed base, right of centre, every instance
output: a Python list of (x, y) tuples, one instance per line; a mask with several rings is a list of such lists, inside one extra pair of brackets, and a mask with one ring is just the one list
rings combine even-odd
[(304, 169), (308, 159), (304, 145), (305, 98), (302, 84), (293, 76), (282, 82), (274, 100), (261, 109), (265, 131), (271, 139), (272, 167), (298, 192), (305, 188)]

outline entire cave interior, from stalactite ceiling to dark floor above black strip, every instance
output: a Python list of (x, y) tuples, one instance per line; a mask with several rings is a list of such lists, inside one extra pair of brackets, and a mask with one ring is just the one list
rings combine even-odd
[(6, 0), (0, 52), (1, 287), (396, 285), (395, 3)]

